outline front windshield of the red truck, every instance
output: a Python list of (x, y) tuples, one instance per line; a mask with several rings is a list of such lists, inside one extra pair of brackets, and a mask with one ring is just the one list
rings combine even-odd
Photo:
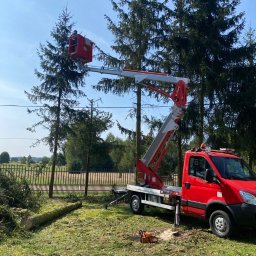
[(256, 180), (256, 174), (240, 158), (211, 156), (211, 159), (225, 179)]

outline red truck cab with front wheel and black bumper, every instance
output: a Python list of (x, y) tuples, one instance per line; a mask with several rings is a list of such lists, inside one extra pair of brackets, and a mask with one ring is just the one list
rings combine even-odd
[(256, 227), (256, 174), (232, 150), (187, 151), (181, 210), (208, 219), (219, 237), (235, 226)]

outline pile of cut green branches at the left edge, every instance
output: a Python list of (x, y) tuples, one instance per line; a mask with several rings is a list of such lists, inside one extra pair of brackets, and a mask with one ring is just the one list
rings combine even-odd
[(11, 171), (0, 169), (0, 240), (17, 227), (21, 212), (35, 211), (40, 207), (38, 199), (26, 180), (14, 177)]

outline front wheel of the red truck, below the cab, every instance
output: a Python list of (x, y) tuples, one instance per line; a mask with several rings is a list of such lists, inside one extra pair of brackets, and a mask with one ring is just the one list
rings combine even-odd
[(212, 233), (218, 237), (229, 237), (233, 233), (234, 224), (229, 215), (221, 210), (213, 212), (210, 216), (210, 227)]

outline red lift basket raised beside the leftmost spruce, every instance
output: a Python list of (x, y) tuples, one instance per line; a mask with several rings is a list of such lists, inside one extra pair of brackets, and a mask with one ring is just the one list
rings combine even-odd
[(69, 56), (75, 59), (82, 59), (85, 63), (92, 62), (93, 42), (91, 40), (77, 34), (77, 40), (70, 37), (68, 43)]

